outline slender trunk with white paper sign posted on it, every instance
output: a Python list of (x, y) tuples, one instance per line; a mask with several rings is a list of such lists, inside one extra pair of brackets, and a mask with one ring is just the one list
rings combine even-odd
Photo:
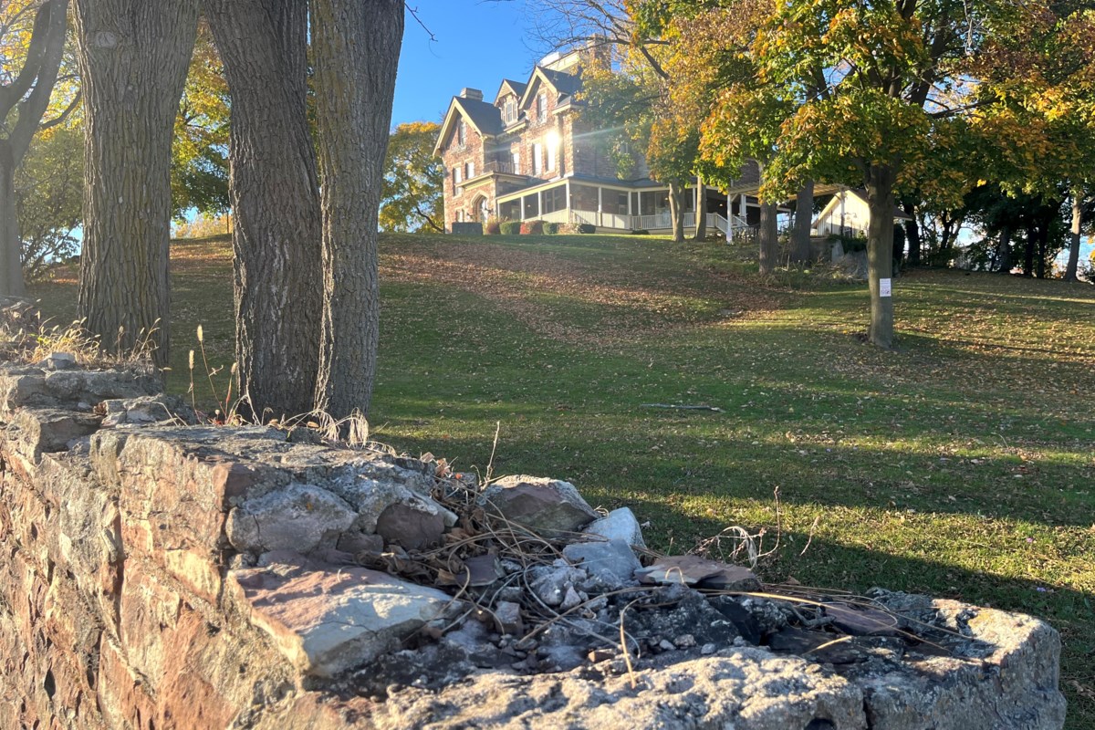
[(871, 286), (871, 341), (894, 347), (894, 298), (885, 291), (894, 273), (894, 179), (889, 165), (871, 165), (867, 175), (867, 281)]

